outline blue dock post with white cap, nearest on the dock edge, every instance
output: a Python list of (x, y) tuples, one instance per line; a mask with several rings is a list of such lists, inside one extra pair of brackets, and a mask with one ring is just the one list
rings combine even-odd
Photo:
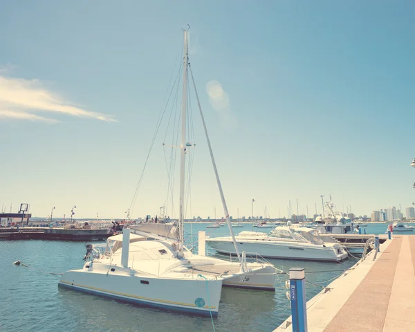
[(307, 332), (306, 276), (304, 268), (290, 269), (290, 300), (293, 332)]

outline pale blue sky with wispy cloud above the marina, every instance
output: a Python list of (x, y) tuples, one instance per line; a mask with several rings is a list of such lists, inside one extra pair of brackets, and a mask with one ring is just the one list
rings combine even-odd
[[(29, 203), (40, 217), (55, 207), (54, 217), (68, 218), (76, 205), (76, 218), (124, 218), (190, 24), (190, 63), (231, 216), (252, 207), (287, 216), (289, 200), (293, 213), (298, 200), (312, 216), (321, 195), (357, 215), (405, 210), (415, 202), (414, 15), (404, 0), (6, 1), (0, 204), (16, 212)], [(221, 218), (190, 101), (186, 216)], [(174, 217), (165, 128), (133, 218), (164, 204)]]

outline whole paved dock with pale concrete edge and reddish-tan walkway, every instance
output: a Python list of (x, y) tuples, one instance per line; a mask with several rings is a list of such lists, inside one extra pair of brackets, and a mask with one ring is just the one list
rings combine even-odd
[[(414, 331), (415, 236), (394, 236), (306, 304), (308, 331)], [(291, 331), (288, 317), (274, 332)]]

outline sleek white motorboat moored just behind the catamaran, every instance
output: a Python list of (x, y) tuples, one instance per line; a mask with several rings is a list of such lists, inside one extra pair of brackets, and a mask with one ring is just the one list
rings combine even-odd
[[(347, 252), (338, 243), (324, 243), (315, 229), (306, 227), (276, 227), (269, 234), (257, 231), (241, 231), (237, 243), (246, 254), (277, 259), (307, 261), (342, 261)], [(207, 237), (206, 243), (222, 254), (234, 254), (232, 238)]]

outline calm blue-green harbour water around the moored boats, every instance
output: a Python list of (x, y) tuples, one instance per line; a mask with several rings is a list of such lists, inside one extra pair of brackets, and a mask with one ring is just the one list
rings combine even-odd
[[(193, 224), (196, 232), (206, 224)], [(186, 225), (190, 238), (190, 224)], [(368, 234), (383, 234), (387, 225), (367, 227)], [(234, 231), (251, 229), (235, 228)], [(269, 229), (262, 229), (269, 231)], [(207, 229), (208, 233), (225, 233), (221, 229)], [(190, 241), (189, 241), (190, 242)], [(210, 317), (183, 315), (154, 308), (145, 308), (86, 295), (57, 287), (58, 276), (48, 272), (64, 272), (82, 267), (86, 243), (60, 241), (0, 241), (0, 331), (213, 331)], [(23, 261), (31, 268), (12, 265)], [(277, 268), (288, 271), (304, 267), (306, 271), (343, 270), (356, 263), (317, 263), (270, 260)], [(340, 272), (306, 274), (306, 280), (328, 284)], [(277, 276), (275, 293), (224, 288), (219, 315), (214, 318), (217, 332), (273, 331), (290, 315), (286, 299), (285, 276)], [(307, 285), (310, 299), (321, 288)]]

